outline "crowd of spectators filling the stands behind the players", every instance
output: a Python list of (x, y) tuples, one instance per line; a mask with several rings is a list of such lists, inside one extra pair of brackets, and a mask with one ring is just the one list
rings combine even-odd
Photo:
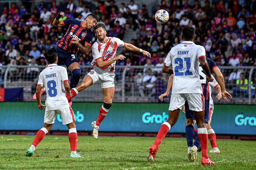
[[(128, 43), (149, 51), (152, 57), (146, 58), (141, 53), (123, 51), (126, 60), (117, 62), (116, 65), (163, 66), (170, 49), (182, 41), (182, 27), (189, 24), (195, 27), (197, 40), (203, 42), (207, 56), (218, 66), (256, 66), (256, 1), (162, 0), (152, 13), (148, 12), (146, 5), (138, 6), (133, 0), (121, 3), (119, 7), (113, 0), (97, 1), (98, 6), (84, 1), (79, 1), (77, 6), (72, 0), (57, 2), (58, 4), (56, 1), (41, 1), (37, 7), (31, 7), (28, 2), (20, 7), (12, 3), (10, 9), (7, 5), (4, 6), (3, 11), (0, 11), (0, 66), (46, 65), (44, 53), (55, 47), (66, 32), (65, 27), (52, 26), (59, 11), (65, 12), (62, 20), (76, 18), (81, 21), (93, 12), (100, 21), (106, 23), (107, 36), (123, 39), (126, 28), (136, 31), (137, 39), (131, 39)], [(154, 19), (155, 12), (160, 9), (165, 9), (170, 14), (166, 24), (159, 24)], [(95, 37), (94, 35), (93, 42), (96, 41)], [(77, 58), (80, 65), (90, 65), (92, 53), (86, 56), (79, 51)], [(11, 70), (11, 74), (36, 76), (39, 71), (36, 68)], [(149, 76), (152, 71), (154, 77)], [(234, 70), (233, 74), (228, 73), (226, 76), (234, 83), (240, 79), (243, 71)], [(161, 69), (144, 69), (142, 74), (143, 82), (157, 82)], [(120, 76), (118, 78), (117, 75), (118, 79)], [(143, 89), (148, 85), (139, 86), (139, 93), (143, 96)], [(155, 92), (156, 89), (151, 88), (148, 94)]]

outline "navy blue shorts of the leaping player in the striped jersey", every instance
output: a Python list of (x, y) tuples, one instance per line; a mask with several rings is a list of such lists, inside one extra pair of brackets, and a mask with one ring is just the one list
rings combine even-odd
[(77, 60), (77, 54), (76, 53), (71, 53), (68, 52), (60, 47), (55, 47), (56, 51), (57, 51), (57, 55), (58, 55), (58, 63), (57, 65), (59, 66), (62, 62), (64, 62), (64, 64), (66, 65), (67, 68), (69, 68), (69, 66), (74, 63), (74, 62), (78, 62)]

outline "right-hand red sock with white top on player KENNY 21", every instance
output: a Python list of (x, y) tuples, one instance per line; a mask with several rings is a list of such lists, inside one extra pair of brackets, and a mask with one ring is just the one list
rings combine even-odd
[(201, 143), (202, 157), (208, 159), (208, 153), (207, 153), (207, 150), (208, 150), (208, 133), (207, 133), (207, 129), (205, 127), (198, 128), (197, 133), (198, 133), (198, 138), (199, 138), (200, 143)]

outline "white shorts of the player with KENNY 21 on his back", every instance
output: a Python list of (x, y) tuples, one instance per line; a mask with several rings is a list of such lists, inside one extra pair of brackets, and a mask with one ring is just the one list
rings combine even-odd
[(189, 105), (189, 110), (201, 112), (205, 110), (205, 99), (203, 93), (193, 93), (193, 94), (172, 94), (169, 110), (173, 111), (180, 109), (185, 101), (187, 100)]

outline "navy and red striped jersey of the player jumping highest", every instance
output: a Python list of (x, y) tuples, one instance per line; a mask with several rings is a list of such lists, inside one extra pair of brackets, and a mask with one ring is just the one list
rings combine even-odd
[(77, 19), (68, 19), (61, 21), (65, 26), (69, 26), (64, 37), (57, 42), (57, 46), (69, 52), (77, 53), (79, 50), (76, 44), (72, 44), (72, 39), (77, 38), (83, 46), (92, 44), (92, 31), (82, 27), (82, 21)]

